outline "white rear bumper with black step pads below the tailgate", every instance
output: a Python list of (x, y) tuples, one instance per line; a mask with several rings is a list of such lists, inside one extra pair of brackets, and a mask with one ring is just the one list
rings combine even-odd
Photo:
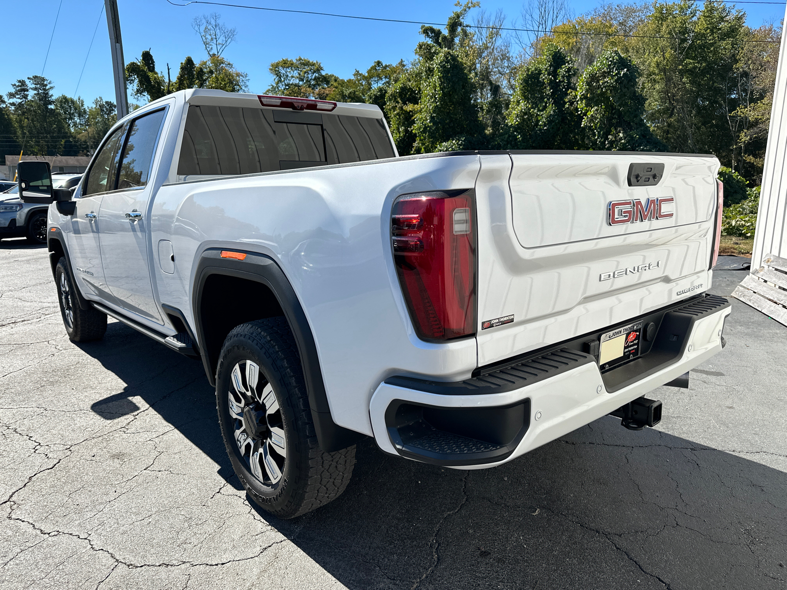
[[(673, 309), (663, 315), (660, 335), (673, 341), (666, 332), (678, 331), (676, 321), (683, 324), (674, 354), (654, 345), (650, 355), (604, 374), (593, 356), (562, 348), (465, 382), (386, 379), (371, 397), (375, 441), (385, 452), (426, 463), (500, 465), (704, 363), (722, 349), (727, 315), (730, 304), (722, 297)], [(633, 378), (637, 366), (640, 377)], [(490, 426), (495, 420), (497, 432)]]

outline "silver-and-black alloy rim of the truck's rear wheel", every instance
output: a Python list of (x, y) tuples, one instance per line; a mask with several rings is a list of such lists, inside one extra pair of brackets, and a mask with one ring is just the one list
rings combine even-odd
[(235, 443), (249, 470), (264, 485), (279, 483), (287, 446), (282, 412), (272, 385), (260, 376), (257, 364), (242, 360), (232, 369), (227, 396)]

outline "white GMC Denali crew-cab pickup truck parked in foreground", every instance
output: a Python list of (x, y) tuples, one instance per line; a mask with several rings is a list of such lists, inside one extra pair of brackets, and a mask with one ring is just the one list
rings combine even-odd
[[(185, 90), (120, 120), (50, 203), (65, 329), (106, 316), (198, 357), (249, 495), (342, 493), (355, 447), (497, 466), (722, 349), (706, 293), (719, 161), (624, 152), (397, 157), (374, 105)], [(49, 184), (48, 184), (49, 183)]]

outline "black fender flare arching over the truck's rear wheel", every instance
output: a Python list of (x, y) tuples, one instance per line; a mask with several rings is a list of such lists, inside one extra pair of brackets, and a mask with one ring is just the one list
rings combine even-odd
[(328, 405), (323, 374), (320, 371), (320, 359), (317, 356), (314, 335), (290, 281), (271, 256), (248, 250), (233, 249), (232, 251), (245, 254), (244, 260), (222, 258), (222, 249), (209, 248), (201, 253), (194, 272), (192, 293), (194, 327), (202, 351), (202, 363), (210, 384), (216, 386), (216, 374), (213, 367), (216, 367), (218, 360), (211, 358), (209, 348), (205, 345), (205, 332), (201, 317), (201, 297), (205, 281), (211, 275), (227, 275), (261, 282), (271, 289), (274, 297), (279, 301), (294, 335), (298, 353), (301, 356), (301, 368), (306, 382), (306, 390), (309, 393), (309, 407), (312, 411), (312, 420), (320, 447), (325, 452), (334, 452), (355, 444), (364, 437), (364, 434), (338, 426), (331, 417), (331, 408)]

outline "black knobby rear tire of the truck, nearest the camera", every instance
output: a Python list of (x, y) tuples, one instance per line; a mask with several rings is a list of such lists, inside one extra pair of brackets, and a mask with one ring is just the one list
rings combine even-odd
[[(258, 367), (251, 368), (258, 374), (253, 386), (249, 386), (253, 378), (247, 376), (249, 361)], [(238, 371), (233, 378), (235, 367)], [(236, 378), (241, 379), (240, 389), (245, 393), (238, 393)], [(231, 399), (235, 400), (233, 408)], [(245, 323), (227, 335), (216, 371), (216, 407), (235, 474), (265, 511), (294, 518), (344, 492), (353, 475), (355, 446), (327, 453), (317, 443), (301, 359), (286, 319)], [(281, 437), (276, 433), (282, 430), (284, 440), (277, 442)], [(253, 473), (255, 460), (257, 474)]]

